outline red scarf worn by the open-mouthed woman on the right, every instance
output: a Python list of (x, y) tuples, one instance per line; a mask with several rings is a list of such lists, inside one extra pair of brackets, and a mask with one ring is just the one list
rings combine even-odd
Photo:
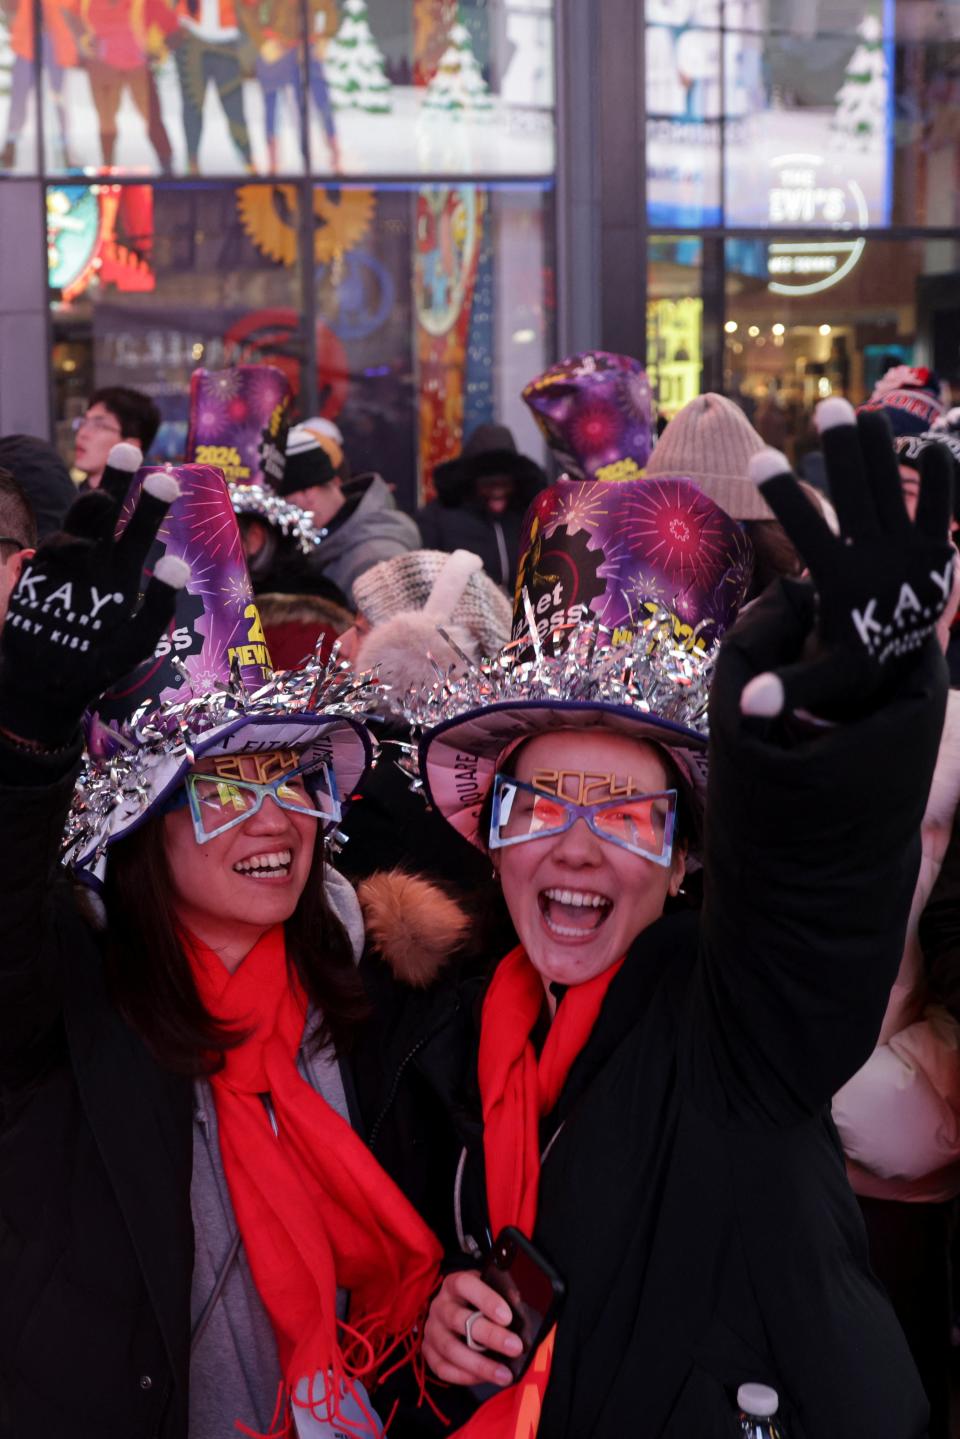
[[(486, 1207), (494, 1238), (515, 1225), (533, 1238), (540, 1189), (540, 1121), (556, 1107), (574, 1059), (597, 1022), (623, 960), (567, 990), (540, 1059), (531, 1033), (544, 1003), (543, 980), (522, 948), (497, 968), (481, 1016), (479, 1088), (484, 1105)], [(556, 1330), (518, 1384), (501, 1390), (458, 1429), (456, 1439), (534, 1439), (550, 1380)]]

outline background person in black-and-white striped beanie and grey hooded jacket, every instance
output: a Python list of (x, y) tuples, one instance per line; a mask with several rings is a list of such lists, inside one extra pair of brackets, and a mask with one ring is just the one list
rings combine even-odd
[(286, 463), (272, 488), (305, 509), (325, 531), (318, 567), (354, 604), (354, 581), (380, 560), (420, 544), (416, 524), (402, 509), (380, 475), (344, 479), (345, 459), (331, 436), (296, 425), (286, 436)]

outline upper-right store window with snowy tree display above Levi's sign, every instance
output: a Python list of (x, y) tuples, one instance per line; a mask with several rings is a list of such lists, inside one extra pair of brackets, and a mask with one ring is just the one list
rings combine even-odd
[(957, 0), (649, 0), (653, 226), (960, 217)]

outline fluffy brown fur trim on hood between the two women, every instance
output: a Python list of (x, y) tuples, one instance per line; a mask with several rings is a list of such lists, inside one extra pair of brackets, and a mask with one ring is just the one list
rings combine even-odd
[(357, 885), (367, 943), (402, 984), (427, 989), (459, 950), (469, 917), (439, 885), (403, 869)]

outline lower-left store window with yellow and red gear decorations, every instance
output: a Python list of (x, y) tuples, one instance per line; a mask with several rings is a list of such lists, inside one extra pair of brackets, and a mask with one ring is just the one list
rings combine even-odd
[(409, 509), (479, 423), (540, 453), (520, 391), (553, 358), (553, 186), (308, 194), (312, 335), (299, 186), (47, 186), (65, 458), (71, 420), (104, 384), (151, 394), (154, 453), (180, 458), (191, 371), (240, 361), (284, 368), (299, 413), (335, 419), (353, 468), (380, 471)]

